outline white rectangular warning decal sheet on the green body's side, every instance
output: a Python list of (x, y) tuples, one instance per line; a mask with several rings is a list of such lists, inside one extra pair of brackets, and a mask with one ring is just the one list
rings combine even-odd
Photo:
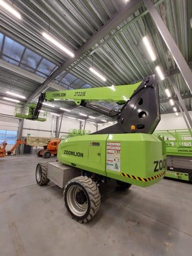
[(121, 142), (107, 142), (107, 170), (120, 172)]

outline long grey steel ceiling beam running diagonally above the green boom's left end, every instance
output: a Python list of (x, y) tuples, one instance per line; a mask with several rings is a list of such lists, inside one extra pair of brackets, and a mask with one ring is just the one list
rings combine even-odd
[(105, 26), (103, 26), (97, 33), (95, 33), (85, 44), (83, 44), (76, 52), (75, 57), (68, 59), (64, 62), (54, 73), (46, 79), (46, 81), (39, 86), (36, 92), (31, 95), (28, 101), (33, 101), (37, 95), (46, 90), (47, 87), (54, 81), (63, 70), (67, 69), (73, 62), (83, 57), (83, 55), (91, 50), (96, 43), (98, 43), (103, 37), (108, 35), (113, 29), (120, 25), (124, 20), (126, 20), (131, 14), (137, 11), (142, 6), (141, 0), (134, 0), (129, 3), (118, 12), (113, 19), (111, 19)]

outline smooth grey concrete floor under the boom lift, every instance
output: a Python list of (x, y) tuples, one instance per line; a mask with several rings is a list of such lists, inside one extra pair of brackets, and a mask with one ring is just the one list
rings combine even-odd
[(82, 225), (68, 214), (62, 189), (36, 185), (37, 162), (36, 156), (0, 158), (1, 256), (191, 255), (192, 185), (164, 179), (148, 188), (112, 189)]

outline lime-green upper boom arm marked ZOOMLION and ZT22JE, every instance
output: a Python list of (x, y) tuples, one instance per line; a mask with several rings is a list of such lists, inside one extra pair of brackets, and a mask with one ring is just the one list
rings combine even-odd
[(45, 100), (74, 100), (77, 105), (81, 103), (81, 100), (124, 103), (140, 84), (141, 82), (129, 85), (46, 92)]

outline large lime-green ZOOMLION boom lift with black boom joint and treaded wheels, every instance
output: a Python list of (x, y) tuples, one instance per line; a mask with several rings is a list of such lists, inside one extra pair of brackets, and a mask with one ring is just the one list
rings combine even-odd
[[(59, 162), (38, 163), (39, 186), (50, 180), (64, 188), (67, 210), (80, 222), (89, 221), (100, 206), (99, 183), (115, 179), (119, 186), (147, 187), (165, 175), (166, 146), (152, 135), (160, 121), (155, 75), (131, 85), (42, 93), (33, 119), (44, 100), (74, 100), (77, 105), (114, 117), (117, 124), (90, 135), (68, 138), (58, 146)], [(101, 109), (90, 101), (123, 104), (121, 110)]]

